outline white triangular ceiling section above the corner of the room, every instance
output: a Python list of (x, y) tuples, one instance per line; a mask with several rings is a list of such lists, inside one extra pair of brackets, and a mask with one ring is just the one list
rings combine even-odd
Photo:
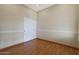
[(54, 4), (25, 4), (25, 5), (32, 8), (36, 12), (38, 12), (40, 10), (46, 9), (50, 6), (53, 6)]

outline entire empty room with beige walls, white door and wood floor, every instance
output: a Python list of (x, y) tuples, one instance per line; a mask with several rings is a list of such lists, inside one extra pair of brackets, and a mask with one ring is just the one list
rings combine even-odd
[(78, 4), (0, 4), (0, 55), (79, 55)]

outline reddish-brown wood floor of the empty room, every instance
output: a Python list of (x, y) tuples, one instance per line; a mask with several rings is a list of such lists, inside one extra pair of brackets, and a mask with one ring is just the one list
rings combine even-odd
[(0, 55), (79, 55), (79, 49), (34, 39), (0, 50)]

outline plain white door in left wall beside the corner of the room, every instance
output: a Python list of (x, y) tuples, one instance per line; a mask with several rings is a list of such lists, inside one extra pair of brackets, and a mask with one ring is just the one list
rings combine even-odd
[(36, 38), (36, 20), (31, 17), (24, 18), (24, 41)]

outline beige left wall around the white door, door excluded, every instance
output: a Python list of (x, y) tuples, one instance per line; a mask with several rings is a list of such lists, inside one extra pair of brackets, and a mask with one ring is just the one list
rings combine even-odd
[(29, 16), (36, 21), (36, 12), (24, 5), (0, 5), (0, 48), (29, 40), (24, 40), (24, 18)]

